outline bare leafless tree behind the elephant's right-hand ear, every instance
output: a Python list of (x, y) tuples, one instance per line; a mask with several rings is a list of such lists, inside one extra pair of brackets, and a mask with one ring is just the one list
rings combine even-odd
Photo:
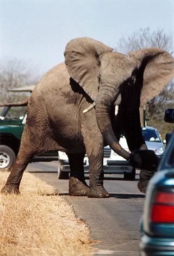
[[(117, 42), (114, 51), (127, 54), (128, 52), (137, 51), (141, 48), (158, 47), (173, 55), (173, 33), (165, 33), (163, 29), (150, 31), (150, 28), (140, 29), (132, 35), (122, 37)], [(154, 97), (147, 104), (147, 118), (150, 119), (150, 125), (156, 125), (163, 132), (161, 122), (164, 119), (164, 109), (171, 107), (174, 94), (174, 81), (171, 81), (160, 95)]]

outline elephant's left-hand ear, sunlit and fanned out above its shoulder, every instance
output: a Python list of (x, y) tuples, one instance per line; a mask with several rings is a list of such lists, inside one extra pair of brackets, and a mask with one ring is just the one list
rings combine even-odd
[(92, 100), (96, 99), (100, 87), (100, 56), (111, 51), (113, 48), (91, 38), (76, 38), (66, 45), (64, 56), (67, 71)]

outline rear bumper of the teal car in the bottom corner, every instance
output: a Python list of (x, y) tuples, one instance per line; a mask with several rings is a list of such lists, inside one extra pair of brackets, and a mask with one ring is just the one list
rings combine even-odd
[(174, 255), (174, 239), (151, 237), (146, 234), (140, 239), (140, 256)]

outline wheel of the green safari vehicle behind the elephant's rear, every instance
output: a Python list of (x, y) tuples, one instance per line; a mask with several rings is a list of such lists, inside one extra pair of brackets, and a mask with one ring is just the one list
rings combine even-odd
[(10, 170), (16, 159), (13, 149), (0, 145), (0, 170)]

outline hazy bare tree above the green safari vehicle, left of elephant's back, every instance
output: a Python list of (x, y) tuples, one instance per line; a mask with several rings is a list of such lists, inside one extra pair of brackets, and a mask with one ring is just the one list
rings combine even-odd
[(9, 100), (8, 90), (29, 86), (35, 84), (39, 80), (38, 72), (35, 67), (31, 68), (29, 63), (18, 60), (0, 60), (0, 100)]

